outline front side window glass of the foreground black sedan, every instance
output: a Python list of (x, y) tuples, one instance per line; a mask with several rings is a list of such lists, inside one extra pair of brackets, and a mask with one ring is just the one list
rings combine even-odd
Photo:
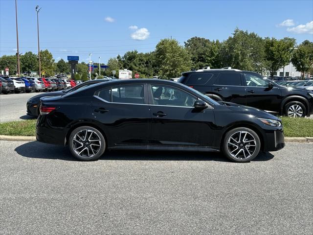
[(151, 92), (154, 105), (194, 107), (197, 100), (191, 94), (164, 85), (151, 85)]

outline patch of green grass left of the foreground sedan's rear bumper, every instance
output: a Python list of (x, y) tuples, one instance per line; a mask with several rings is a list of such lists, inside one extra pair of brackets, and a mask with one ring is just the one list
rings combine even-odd
[(35, 136), (37, 119), (0, 123), (0, 135)]

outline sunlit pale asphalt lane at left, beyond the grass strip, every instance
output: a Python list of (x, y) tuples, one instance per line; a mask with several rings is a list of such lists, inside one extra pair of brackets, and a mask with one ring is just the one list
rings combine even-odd
[(30, 119), (26, 115), (27, 100), (40, 93), (0, 94), (0, 122)]

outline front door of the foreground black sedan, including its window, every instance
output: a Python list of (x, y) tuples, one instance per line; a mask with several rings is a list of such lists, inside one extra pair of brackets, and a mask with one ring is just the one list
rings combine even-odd
[(212, 109), (195, 111), (198, 99), (175, 87), (161, 84), (149, 88), (152, 117), (151, 144), (212, 146), (214, 115)]

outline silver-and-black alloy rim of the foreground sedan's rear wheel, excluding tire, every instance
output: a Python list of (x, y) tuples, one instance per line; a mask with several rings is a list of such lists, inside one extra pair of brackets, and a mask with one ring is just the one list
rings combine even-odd
[(72, 139), (72, 147), (75, 153), (83, 158), (92, 158), (101, 148), (99, 135), (92, 130), (81, 130)]

